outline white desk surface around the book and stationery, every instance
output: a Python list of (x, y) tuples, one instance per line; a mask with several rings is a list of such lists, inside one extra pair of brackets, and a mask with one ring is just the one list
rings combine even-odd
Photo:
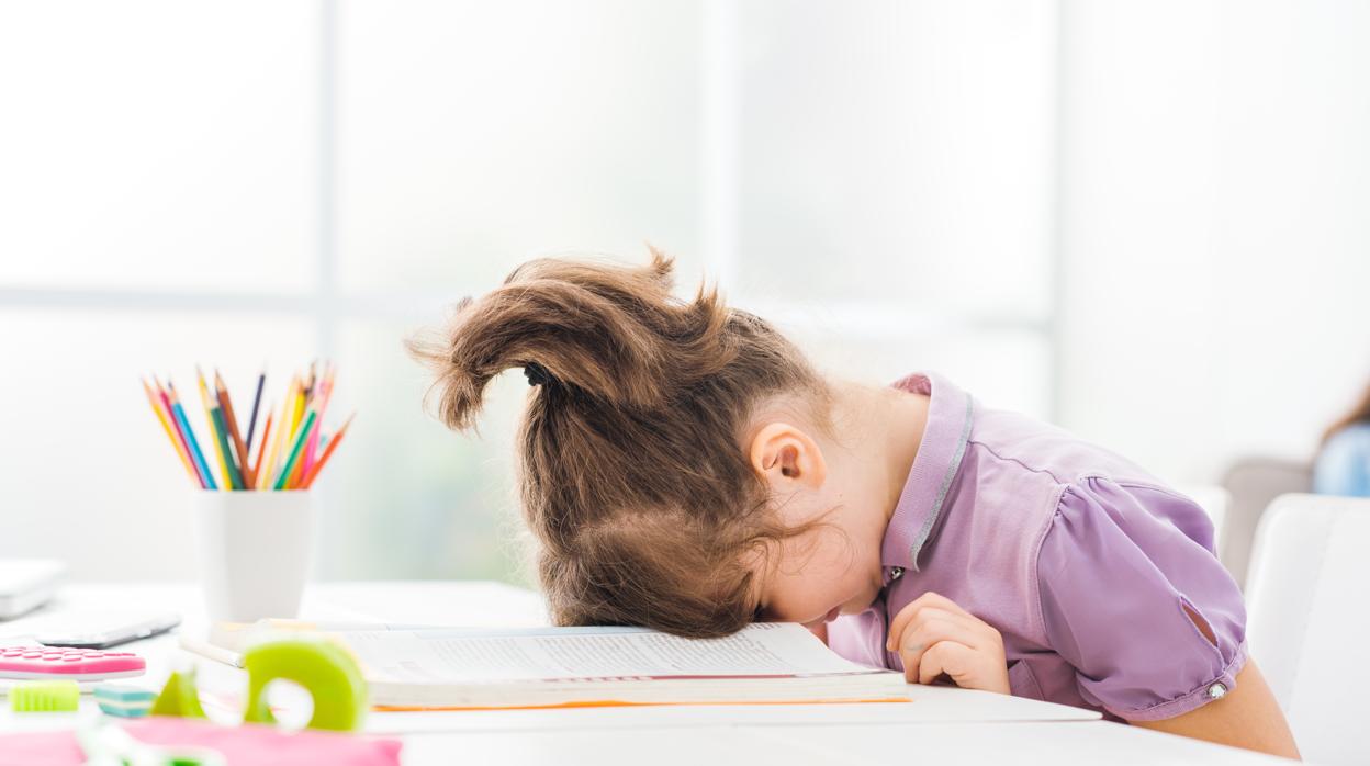
[[(62, 610), (158, 606), (203, 630), (189, 585), (77, 585), (0, 637), (53, 619)], [(443, 625), (518, 626), (545, 622), (540, 599), (495, 582), (330, 582), (311, 586), (303, 617)], [(210, 684), (240, 671), (189, 655), (173, 636), (130, 644), (162, 678), (195, 660)], [(1093, 713), (947, 687), (910, 687), (910, 704), (688, 706), (460, 713), (385, 713), (367, 730), (404, 740), (404, 763), (690, 763), (782, 758), (790, 763), (911, 761), (1014, 763), (1280, 763), (1256, 754), (1100, 721)], [(88, 702), (88, 700), (86, 700)], [(0, 730), (52, 726), (0, 715)], [(56, 722), (60, 725), (60, 722)]]

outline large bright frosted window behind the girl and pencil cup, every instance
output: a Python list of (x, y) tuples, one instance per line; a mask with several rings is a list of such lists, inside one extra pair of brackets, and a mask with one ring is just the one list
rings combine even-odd
[(1049, 417), (1052, 14), (0, 7), (0, 512), (40, 519), (0, 555), (189, 577), (189, 482), (137, 377), (218, 365), (244, 397), (263, 362), (281, 391), (327, 356), (359, 417), (321, 573), (519, 580), (522, 377), (455, 436), (401, 338), (543, 254), (652, 243), (833, 374), (932, 367)]

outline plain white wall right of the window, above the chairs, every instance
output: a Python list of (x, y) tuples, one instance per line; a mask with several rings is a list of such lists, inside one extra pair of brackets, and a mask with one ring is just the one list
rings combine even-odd
[(1370, 377), (1370, 4), (1063, 5), (1059, 419), (1303, 458)]

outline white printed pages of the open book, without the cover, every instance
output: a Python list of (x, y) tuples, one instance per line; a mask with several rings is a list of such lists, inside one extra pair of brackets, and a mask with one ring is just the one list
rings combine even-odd
[(723, 639), (640, 628), (390, 630), (338, 633), (367, 676), (463, 682), (619, 678), (756, 678), (871, 673), (804, 626), (759, 622)]

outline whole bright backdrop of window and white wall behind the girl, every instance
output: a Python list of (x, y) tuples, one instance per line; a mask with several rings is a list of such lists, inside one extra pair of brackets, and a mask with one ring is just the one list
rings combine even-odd
[(0, 5), (0, 555), (192, 577), (138, 375), (332, 358), (319, 574), (522, 581), (523, 378), (455, 436), (401, 340), (645, 243), (836, 375), (1185, 485), (1304, 459), (1370, 377), (1367, 38), (1326, 0)]

